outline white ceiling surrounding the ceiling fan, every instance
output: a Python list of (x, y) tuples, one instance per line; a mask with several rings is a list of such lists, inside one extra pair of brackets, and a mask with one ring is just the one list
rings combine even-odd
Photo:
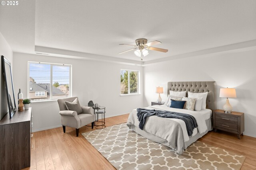
[[(255, 0), (22, 0), (0, 6), (0, 32), (14, 52), (35, 46), (140, 61), (135, 39), (158, 40), (144, 61), (256, 39)], [(46, 51), (40, 51), (46, 52)], [(110, 58), (108, 58), (110, 59)]]

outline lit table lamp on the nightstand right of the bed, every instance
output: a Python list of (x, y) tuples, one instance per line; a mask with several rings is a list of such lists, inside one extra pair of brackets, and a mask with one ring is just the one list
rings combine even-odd
[(224, 113), (231, 113), (232, 106), (229, 103), (228, 98), (236, 98), (236, 89), (234, 88), (221, 88), (220, 98), (227, 98), (226, 103), (223, 106)]

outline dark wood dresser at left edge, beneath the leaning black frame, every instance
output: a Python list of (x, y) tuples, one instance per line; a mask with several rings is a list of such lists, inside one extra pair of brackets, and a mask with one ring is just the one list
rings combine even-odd
[(0, 121), (0, 170), (20, 170), (30, 166), (31, 107), (16, 111)]

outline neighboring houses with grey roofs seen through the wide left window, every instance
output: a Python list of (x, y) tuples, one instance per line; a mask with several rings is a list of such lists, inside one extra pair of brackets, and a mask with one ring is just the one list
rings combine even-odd
[[(64, 89), (64, 88), (63, 88)], [(68, 96), (68, 90), (65, 91), (52, 86), (53, 98), (65, 98)], [(50, 83), (33, 83), (29, 82), (30, 99), (50, 99)]]

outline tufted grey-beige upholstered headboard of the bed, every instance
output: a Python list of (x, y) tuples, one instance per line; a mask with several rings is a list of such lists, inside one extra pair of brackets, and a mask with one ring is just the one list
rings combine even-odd
[(168, 82), (167, 94), (170, 94), (169, 90), (175, 92), (186, 91), (186, 97), (188, 92), (203, 93), (208, 92), (206, 98), (206, 108), (216, 109), (216, 82)]

